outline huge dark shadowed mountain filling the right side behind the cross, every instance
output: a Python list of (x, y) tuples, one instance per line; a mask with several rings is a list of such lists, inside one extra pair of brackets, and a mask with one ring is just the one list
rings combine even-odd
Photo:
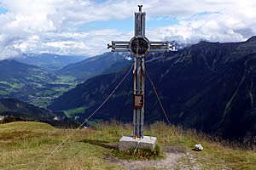
[[(202, 41), (177, 52), (148, 54), (148, 74), (171, 122), (228, 139), (255, 136), (255, 49), (256, 37), (252, 37), (247, 42)], [(90, 78), (55, 99), (49, 109), (74, 111), (73, 116), (83, 121), (108, 97), (126, 71)], [(109, 120), (121, 114), (121, 121), (132, 122), (132, 92), (119, 113), (129, 82), (125, 80), (95, 119)], [(147, 79), (145, 91), (145, 122), (165, 120)]]

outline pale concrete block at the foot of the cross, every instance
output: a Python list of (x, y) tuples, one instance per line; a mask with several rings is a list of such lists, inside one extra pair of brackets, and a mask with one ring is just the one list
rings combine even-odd
[(136, 147), (138, 149), (148, 148), (154, 150), (155, 142), (156, 138), (151, 136), (144, 136), (143, 139), (134, 139), (131, 135), (125, 135), (119, 140), (119, 150), (129, 150)]

